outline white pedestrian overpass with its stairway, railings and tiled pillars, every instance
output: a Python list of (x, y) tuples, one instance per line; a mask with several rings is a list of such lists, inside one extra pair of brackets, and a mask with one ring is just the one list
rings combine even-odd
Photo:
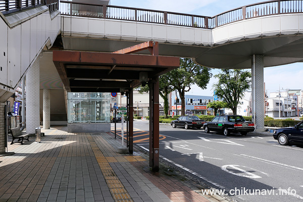
[[(106, 84), (102, 87), (90, 82), (96, 79), (95, 75), (76, 75), (83, 70), (109, 69), (110, 66), (81, 64), (79, 68), (73, 61), (74, 66), (62, 68), (75, 74), (57, 72), (52, 62), (54, 50), (113, 53), (142, 42), (157, 41), (159, 56), (190, 57), (212, 68), (251, 69), (252, 111), (257, 129), (264, 127), (264, 67), (303, 61), (303, 1), (258, 3), (214, 17), (70, 1), (22, 2), (0, 1), (3, 73), (0, 101), (4, 109), (4, 103), (26, 75), (26, 125), (32, 133), (40, 121), (37, 99), (40, 88), (45, 89), (45, 99), (49, 97), (47, 89), (58, 86), (63, 89), (62, 81), (71, 92), (79, 91), (75, 88), (77, 85), (69, 86), (77, 80), (86, 81), (86, 85), (81, 86), (82, 92), (110, 89)], [(139, 53), (150, 54), (148, 48)], [(68, 59), (65, 63), (68, 64)], [(115, 67), (109, 71), (123, 75), (124, 70)], [(144, 69), (148, 71), (155, 70)], [(132, 89), (138, 85), (139, 76), (138, 73), (134, 80), (126, 81), (127, 84), (124, 81), (123, 87)], [(4, 113), (1, 116), (5, 116)], [(0, 147), (0, 151), (4, 151), (3, 146)]]

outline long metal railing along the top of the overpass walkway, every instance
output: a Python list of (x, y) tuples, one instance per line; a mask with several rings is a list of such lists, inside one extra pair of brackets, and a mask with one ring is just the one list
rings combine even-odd
[[(1, 2), (1, 1), (0, 1)], [(62, 15), (117, 19), (135, 22), (214, 29), (222, 25), (262, 16), (302, 13), (303, 0), (268, 1), (236, 8), (214, 17), (60, 1)]]

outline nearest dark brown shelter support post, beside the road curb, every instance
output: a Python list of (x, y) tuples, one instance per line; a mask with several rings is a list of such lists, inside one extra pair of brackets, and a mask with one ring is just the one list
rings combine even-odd
[(149, 81), (149, 166), (159, 171), (159, 77)]

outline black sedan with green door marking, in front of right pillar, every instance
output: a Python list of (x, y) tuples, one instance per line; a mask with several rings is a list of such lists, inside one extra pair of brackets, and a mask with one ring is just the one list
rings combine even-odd
[(225, 136), (230, 133), (238, 133), (246, 135), (248, 132), (255, 130), (255, 124), (245, 119), (240, 115), (224, 115), (216, 116), (211, 122), (203, 125), (206, 133), (210, 131), (222, 132)]

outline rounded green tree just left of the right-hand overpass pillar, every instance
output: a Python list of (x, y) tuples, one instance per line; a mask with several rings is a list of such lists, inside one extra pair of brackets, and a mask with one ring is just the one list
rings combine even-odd
[(215, 75), (219, 81), (213, 85), (213, 88), (218, 97), (226, 103), (226, 107), (236, 115), (239, 100), (243, 98), (244, 91), (250, 89), (251, 73), (239, 69), (221, 71), (222, 73)]

